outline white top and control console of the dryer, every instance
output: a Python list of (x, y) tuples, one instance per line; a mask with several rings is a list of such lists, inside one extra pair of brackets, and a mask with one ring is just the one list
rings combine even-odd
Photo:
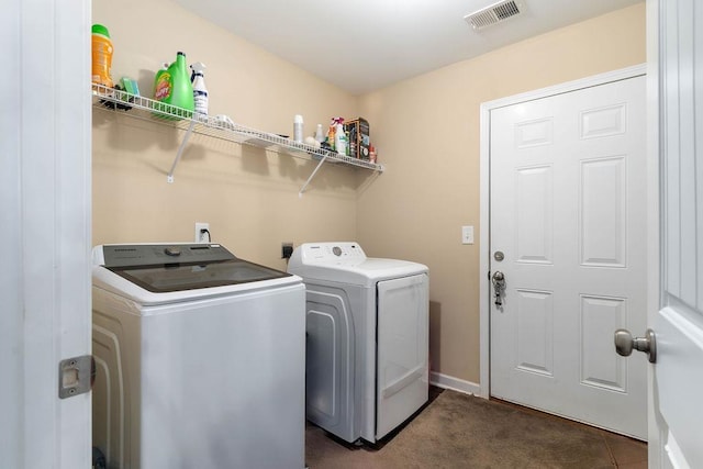
[(379, 280), (427, 273), (427, 266), (409, 260), (366, 257), (358, 243), (304, 243), (293, 250), (288, 271), (303, 280), (371, 287)]

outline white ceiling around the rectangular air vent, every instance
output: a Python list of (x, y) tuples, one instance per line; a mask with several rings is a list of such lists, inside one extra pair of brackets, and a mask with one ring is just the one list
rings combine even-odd
[(496, 0), (174, 0), (313, 75), (361, 94), (643, 0), (515, 0), (522, 13), (475, 31)]

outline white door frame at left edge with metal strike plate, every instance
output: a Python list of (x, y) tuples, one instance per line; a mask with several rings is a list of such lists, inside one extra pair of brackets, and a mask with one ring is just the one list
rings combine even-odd
[(0, 30), (0, 466), (88, 468), (58, 369), (90, 354), (90, 1), (3, 1)]

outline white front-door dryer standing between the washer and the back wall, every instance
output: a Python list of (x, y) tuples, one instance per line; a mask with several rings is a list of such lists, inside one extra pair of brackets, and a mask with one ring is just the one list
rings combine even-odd
[(305, 415), (376, 443), (427, 402), (428, 270), (357, 243), (306, 243), (288, 271), (306, 289)]

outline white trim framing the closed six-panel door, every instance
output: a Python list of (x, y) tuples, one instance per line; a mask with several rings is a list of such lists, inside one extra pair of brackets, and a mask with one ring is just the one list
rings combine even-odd
[(480, 142), (480, 239), (481, 247), (479, 253), (480, 270), (479, 270), (479, 337), (480, 337), (480, 392), (481, 398), (488, 399), (490, 395), (490, 118), (491, 111), (506, 105), (518, 104), (525, 101), (547, 98), (555, 94), (561, 94), (576, 91), (583, 88), (590, 88), (612, 81), (624, 80), (627, 78), (646, 75), (646, 64), (623, 68), (620, 70), (609, 71), (592, 77), (568, 81), (566, 83), (553, 87), (542, 88), (507, 98), (501, 98), (494, 101), (488, 101), (481, 104), (481, 142)]

